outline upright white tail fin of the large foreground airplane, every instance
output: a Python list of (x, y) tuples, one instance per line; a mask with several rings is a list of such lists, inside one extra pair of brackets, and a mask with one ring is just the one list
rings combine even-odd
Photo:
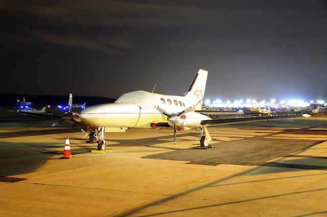
[(185, 95), (187, 98), (194, 98), (194, 101), (196, 101), (195, 110), (201, 110), (207, 75), (208, 71), (200, 69), (188, 93)]

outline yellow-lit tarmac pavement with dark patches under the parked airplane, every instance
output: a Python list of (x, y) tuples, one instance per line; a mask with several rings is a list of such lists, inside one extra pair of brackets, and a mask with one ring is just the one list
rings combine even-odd
[(105, 133), (108, 153), (51, 123), (0, 123), (1, 216), (327, 215), (326, 116), (209, 128), (208, 150), (195, 130)]

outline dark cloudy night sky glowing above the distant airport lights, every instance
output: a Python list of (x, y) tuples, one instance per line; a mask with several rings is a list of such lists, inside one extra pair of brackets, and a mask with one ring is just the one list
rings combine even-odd
[(0, 1), (0, 93), (327, 99), (326, 1)]

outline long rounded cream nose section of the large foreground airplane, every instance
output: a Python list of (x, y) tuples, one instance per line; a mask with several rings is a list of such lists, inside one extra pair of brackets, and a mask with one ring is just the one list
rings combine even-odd
[(87, 125), (103, 127), (134, 127), (140, 108), (129, 103), (110, 103), (90, 106), (81, 111), (81, 119)]

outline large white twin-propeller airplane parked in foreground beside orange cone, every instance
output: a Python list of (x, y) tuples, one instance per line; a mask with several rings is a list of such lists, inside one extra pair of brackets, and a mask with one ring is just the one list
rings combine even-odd
[(200, 145), (208, 147), (209, 142), (212, 141), (207, 130), (208, 126), (248, 120), (302, 116), (301, 114), (291, 114), (212, 119), (194, 112), (201, 110), (207, 73), (202, 69), (198, 71), (184, 97), (142, 90), (134, 91), (123, 94), (114, 103), (90, 106), (78, 114), (71, 112), (71, 96), (69, 98), (69, 111), (64, 115), (52, 116), (76, 125), (81, 131), (87, 130), (90, 142), (98, 143), (98, 150), (105, 150), (106, 148), (104, 131), (125, 132), (129, 128), (167, 127), (173, 129), (174, 143), (176, 144), (176, 130), (200, 128)]

